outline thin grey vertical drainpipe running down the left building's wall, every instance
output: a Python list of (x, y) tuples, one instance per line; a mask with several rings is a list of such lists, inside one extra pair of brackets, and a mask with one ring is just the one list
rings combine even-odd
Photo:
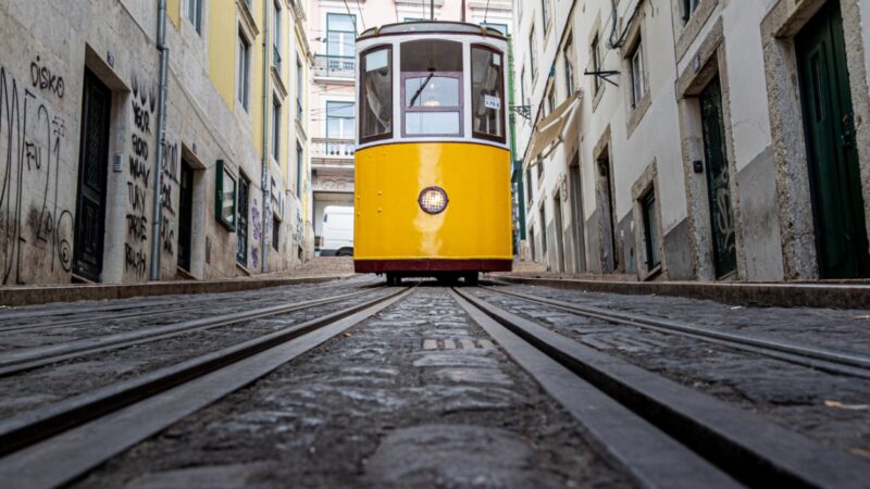
[(154, 163), (154, 208), (151, 223), (151, 280), (160, 279), (161, 179), (163, 178), (163, 145), (166, 141), (166, 78), (170, 48), (166, 46), (166, 0), (160, 0), (157, 14), (157, 49), (160, 51), (160, 89), (157, 109), (157, 161)]

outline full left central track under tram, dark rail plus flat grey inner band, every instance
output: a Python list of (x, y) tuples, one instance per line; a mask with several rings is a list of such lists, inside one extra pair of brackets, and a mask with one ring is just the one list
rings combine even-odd
[[(57, 487), (187, 414), (269, 374), (412, 288), (0, 421), (0, 479)], [(234, 315), (226, 315), (234, 316)], [(224, 317), (238, 321), (237, 317)], [(87, 449), (85, 449), (87, 448)]]

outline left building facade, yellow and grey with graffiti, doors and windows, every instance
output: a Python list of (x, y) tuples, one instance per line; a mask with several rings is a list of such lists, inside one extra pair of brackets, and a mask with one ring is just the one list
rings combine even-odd
[(0, 2), (2, 284), (310, 258), (304, 22), (289, 0)]

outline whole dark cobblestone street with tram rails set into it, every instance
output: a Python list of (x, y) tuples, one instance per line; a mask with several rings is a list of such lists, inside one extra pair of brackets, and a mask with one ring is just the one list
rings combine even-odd
[[(591, 317), (555, 304), (644, 321)], [(501, 325), (470, 315), (472, 305)], [(11, 477), (9, 487), (72, 477), (83, 488), (555, 488), (644, 480), (860, 487), (866, 479), (856, 477), (870, 467), (868, 314), (498, 283), (383, 287), (366, 276), (258, 292), (8, 309), (0, 312), (0, 438), (21, 450), (5, 451), (0, 476)], [(657, 321), (666, 323), (650, 326)], [(700, 329), (668, 330), (672, 324)], [(502, 326), (504, 333), (493, 329)], [(558, 336), (548, 339), (539, 327)], [(520, 338), (537, 348), (518, 349)], [(813, 359), (800, 356), (810, 352)], [(596, 354), (611, 360), (602, 364)], [(258, 366), (269, 355), (284, 356)], [(618, 371), (604, 381), (607, 365)], [(622, 378), (630, 366), (641, 369)], [(215, 375), (227, 380), (215, 384)], [(197, 385), (210, 393), (182, 394)], [(600, 393), (581, 394), (586, 389)], [(660, 408), (634, 404), (620, 393), (625, 389), (647, 389), (645, 396), (686, 417), (674, 425)], [(194, 404), (173, 414), (176, 402)], [(149, 403), (166, 408), (151, 411)], [(695, 419), (693, 404), (721, 414)], [(607, 428), (612, 422), (604, 413), (618, 424)], [(152, 426), (141, 432), (123, 428), (146, 418)], [(701, 435), (680, 428), (695, 423), (705, 427)], [(754, 428), (757, 436), (737, 429), (714, 443), (703, 434), (709, 427), (725, 435), (734, 423), (763, 428)], [(101, 441), (117, 429), (130, 432)], [(23, 430), (26, 439), (17, 435)], [(90, 449), (79, 447), (80, 437)], [(747, 474), (701, 448), (710, 443), (731, 446), (736, 452), (729, 456), (742, 465), (776, 468)], [(799, 456), (813, 454), (813, 462), (795, 466), (799, 457), (780, 443)], [(67, 450), (83, 454), (39, 469)], [(696, 467), (692, 475), (680, 473), (683, 464)]]

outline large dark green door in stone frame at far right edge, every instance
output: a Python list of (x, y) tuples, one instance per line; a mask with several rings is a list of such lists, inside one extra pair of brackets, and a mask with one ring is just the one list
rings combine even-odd
[(870, 276), (840, 2), (795, 38), (821, 278)]

